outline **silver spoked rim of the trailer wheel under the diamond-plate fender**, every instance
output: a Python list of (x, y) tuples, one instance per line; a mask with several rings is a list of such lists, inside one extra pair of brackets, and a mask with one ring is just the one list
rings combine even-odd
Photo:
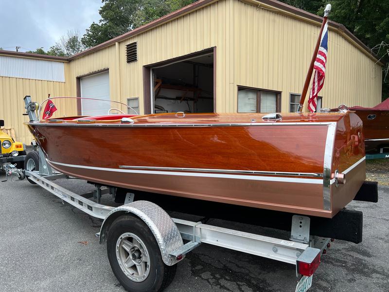
[(116, 241), (116, 259), (123, 273), (134, 282), (144, 281), (150, 273), (150, 257), (141, 238), (126, 232)]

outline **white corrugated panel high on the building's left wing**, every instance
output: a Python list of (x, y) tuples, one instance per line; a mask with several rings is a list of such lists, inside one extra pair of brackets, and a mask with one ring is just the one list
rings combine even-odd
[(0, 55), (0, 76), (65, 82), (63, 62)]

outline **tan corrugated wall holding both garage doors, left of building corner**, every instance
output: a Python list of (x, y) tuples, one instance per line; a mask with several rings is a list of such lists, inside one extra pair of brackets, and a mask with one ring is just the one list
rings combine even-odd
[[(228, 41), (231, 42), (231, 37), (227, 34), (230, 3), (230, 0), (220, 0), (116, 46), (112, 45), (71, 61), (70, 82), (67, 79), (71, 94), (76, 94), (77, 76), (109, 68), (111, 99), (125, 103), (128, 97), (139, 96), (140, 110), (143, 113), (143, 66), (198, 52), (217, 44), (216, 91), (218, 96), (223, 96), (220, 101), (218, 99), (217, 107), (226, 111), (225, 100), (229, 100), (227, 95), (233, 95), (232, 91), (226, 89), (230, 82), (230, 73), (226, 72), (230, 70), (231, 63), (226, 56)], [(138, 61), (126, 63), (125, 45), (134, 41), (138, 43)]]

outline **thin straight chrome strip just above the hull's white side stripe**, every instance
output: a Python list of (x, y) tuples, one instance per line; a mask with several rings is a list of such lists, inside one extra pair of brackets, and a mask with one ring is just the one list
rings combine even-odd
[(275, 176), (290, 176), (290, 177), (323, 177), (322, 173), (314, 172), (278, 172), (278, 171), (259, 171), (259, 170), (235, 170), (235, 169), (214, 169), (214, 168), (181, 168), (181, 167), (155, 167), (155, 166), (133, 166), (119, 165), (119, 168), (125, 169), (147, 169), (147, 170), (168, 170), (168, 171), (191, 171), (191, 172), (207, 172), (207, 173), (234, 173), (234, 174), (260, 174), (260, 175), (275, 175)]

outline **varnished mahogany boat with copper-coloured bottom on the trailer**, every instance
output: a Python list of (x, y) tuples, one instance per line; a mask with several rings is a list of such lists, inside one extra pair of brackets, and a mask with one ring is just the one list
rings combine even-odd
[(332, 218), (365, 181), (362, 122), (350, 112), (116, 114), (26, 125), (53, 168), (127, 189)]

